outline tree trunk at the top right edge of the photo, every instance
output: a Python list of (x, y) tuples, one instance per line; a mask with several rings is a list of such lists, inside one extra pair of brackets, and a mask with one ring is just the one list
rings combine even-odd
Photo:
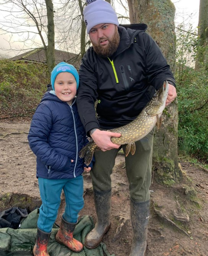
[(200, 0), (198, 18), (198, 51), (195, 70), (208, 70), (208, 0)]

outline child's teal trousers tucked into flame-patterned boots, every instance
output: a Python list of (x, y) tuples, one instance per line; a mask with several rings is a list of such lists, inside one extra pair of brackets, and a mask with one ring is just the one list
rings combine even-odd
[(52, 230), (61, 202), (62, 189), (66, 202), (63, 218), (68, 222), (75, 223), (78, 213), (84, 206), (83, 176), (57, 180), (38, 178), (38, 183), (42, 205), (37, 220), (37, 227), (47, 233)]

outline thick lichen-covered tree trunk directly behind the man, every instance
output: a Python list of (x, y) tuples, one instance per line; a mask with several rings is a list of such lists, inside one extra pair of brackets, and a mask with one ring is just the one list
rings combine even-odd
[[(170, 0), (128, 0), (131, 23), (146, 23), (148, 33), (161, 48), (171, 70), (175, 68), (175, 7)], [(182, 177), (178, 165), (177, 101), (166, 107), (162, 127), (155, 133), (153, 170), (156, 178), (166, 183), (177, 182)]]

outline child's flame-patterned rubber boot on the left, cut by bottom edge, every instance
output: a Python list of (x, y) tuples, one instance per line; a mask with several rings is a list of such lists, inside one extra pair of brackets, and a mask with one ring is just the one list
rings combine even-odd
[(47, 245), (50, 238), (50, 233), (46, 233), (37, 228), (36, 244), (33, 248), (34, 256), (49, 256)]

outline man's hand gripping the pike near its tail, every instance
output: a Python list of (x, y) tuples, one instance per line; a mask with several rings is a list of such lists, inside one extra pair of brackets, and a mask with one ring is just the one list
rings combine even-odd
[(111, 142), (111, 137), (120, 137), (120, 133), (116, 132), (109, 132), (106, 130), (99, 130), (99, 129), (92, 129), (90, 132), (90, 135), (96, 145), (102, 150), (110, 150), (110, 149), (118, 149), (120, 145), (116, 145)]

